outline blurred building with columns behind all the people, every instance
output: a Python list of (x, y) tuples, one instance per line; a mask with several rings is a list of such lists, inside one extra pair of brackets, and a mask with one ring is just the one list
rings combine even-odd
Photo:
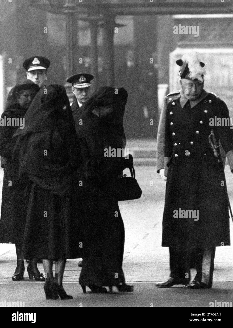
[[(1, 0), (1, 112), (7, 92), (25, 79), (22, 62), (49, 58), (48, 84), (70, 85), (78, 72), (99, 86), (125, 87), (128, 138), (156, 138), (166, 92), (179, 90), (175, 60), (195, 49), (207, 63), (205, 89), (233, 116), (233, 10), (225, 0)], [(199, 26), (199, 36), (174, 34)]]

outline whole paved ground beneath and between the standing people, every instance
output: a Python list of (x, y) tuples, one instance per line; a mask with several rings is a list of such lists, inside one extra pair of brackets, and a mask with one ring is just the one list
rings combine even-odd
[[(46, 301), (43, 283), (25, 280), (13, 282), (16, 266), (14, 245), (0, 244), (0, 301), (24, 301), (25, 306), (209, 306), (210, 301), (233, 301), (232, 246), (217, 247), (213, 288), (187, 291), (181, 286), (156, 289), (155, 282), (169, 277), (168, 248), (161, 247), (165, 182), (154, 166), (136, 166), (136, 178), (143, 190), (138, 200), (120, 202), (126, 241), (123, 269), (126, 281), (135, 286), (133, 294), (94, 295), (82, 293), (78, 284), (78, 259), (68, 260), (64, 286), (74, 299)], [(127, 171), (125, 173), (128, 173)], [(129, 173), (128, 173), (129, 174)], [(233, 205), (233, 175), (225, 169), (230, 202)], [(2, 170), (1, 170), (2, 180)], [(1, 182), (1, 181), (0, 181)], [(1, 189), (1, 185), (0, 185)], [(208, 195), (206, 195), (207, 197)], [(233, 224), (230, 222), (231, 240)], [(43, 272), (42, 264), (39, 269)], [(192, 271), (192, 278), (195, 270)], [(116, 290), (115, 290), (116, 292)]]

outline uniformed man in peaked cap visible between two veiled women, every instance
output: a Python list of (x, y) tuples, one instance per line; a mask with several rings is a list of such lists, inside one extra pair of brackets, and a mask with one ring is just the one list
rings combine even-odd
[[(72, 92), (74, 94), (73, 102), (70, 104), (72, 115), (75, 124), (79, 124), (80, 116), (82, 113), (81, 107), (90, 97), (90, 81), (93, 80), (94, 76), (88, 73), (79, 73), (70, 76), (67, 82), (72, 83)], [(78, 266), (82, 266), (83, 261), (79, 261)]]

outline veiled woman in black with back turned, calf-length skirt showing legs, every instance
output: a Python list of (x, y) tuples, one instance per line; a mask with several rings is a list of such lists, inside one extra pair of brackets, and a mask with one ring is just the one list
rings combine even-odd
[(72, 298), (62, 280), (66, 259), (82, 256), (75, 181), (81, 154), (63, 86), (38, 92), (25, 115), (25, 129), (15, 133), (14, 141), (13, 160), (30, 180), (23, 256), (43, 258), (46, 299)]

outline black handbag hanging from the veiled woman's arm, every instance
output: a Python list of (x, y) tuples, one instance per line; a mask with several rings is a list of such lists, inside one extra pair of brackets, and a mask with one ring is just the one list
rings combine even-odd
[(129, 170), (131, 176), (123, 176), (114, 180), (112, 191), (118, 201), (138, 199), (142, 195), (142, 189), (135, 179), (134, 167), (132, 166)]

